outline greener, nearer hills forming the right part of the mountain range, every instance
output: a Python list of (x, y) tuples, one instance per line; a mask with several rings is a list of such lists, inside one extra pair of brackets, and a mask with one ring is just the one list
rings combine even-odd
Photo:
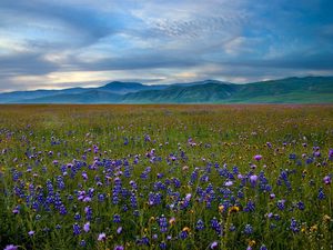
[(172, 86), (165, 90), (128, 93), (133, 103), (327, 103), (333, 102), (332, 77), (287, 78), (248, 84)]

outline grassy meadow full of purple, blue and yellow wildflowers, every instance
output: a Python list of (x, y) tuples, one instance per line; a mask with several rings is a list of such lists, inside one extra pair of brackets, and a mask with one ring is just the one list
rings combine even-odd
[(0, 249), (333, 249), (332, 106), (0, 106)]

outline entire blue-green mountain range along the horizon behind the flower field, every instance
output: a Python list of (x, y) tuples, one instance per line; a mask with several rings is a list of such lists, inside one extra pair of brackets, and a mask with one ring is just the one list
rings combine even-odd
[(0, 93), (0, 103), (333, 103), (333, 77), (285, 78), (235, 84), (216, 80)]

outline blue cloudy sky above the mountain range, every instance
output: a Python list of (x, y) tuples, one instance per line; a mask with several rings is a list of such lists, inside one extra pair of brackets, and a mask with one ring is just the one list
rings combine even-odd
[(0, 0), (0, 91), (333, 76), (332, 0)]

